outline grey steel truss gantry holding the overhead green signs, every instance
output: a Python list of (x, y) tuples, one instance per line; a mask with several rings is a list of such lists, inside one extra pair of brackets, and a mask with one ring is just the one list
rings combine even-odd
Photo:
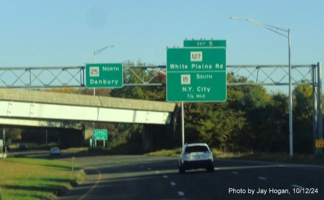
[[(123, 68), (124, 86), (166, 85), (165, 65), (124, 66)], [(312, 86), (313, 138), (323, 139), (322, 63), (292, 65), (291, 78), (293, 86)], [(289, 66), (227, 65), (227, 86), (242, 85), (288, 86)], [(60, 87), (85, 87), (85, 66), (0, 68), (0, 88)]]

